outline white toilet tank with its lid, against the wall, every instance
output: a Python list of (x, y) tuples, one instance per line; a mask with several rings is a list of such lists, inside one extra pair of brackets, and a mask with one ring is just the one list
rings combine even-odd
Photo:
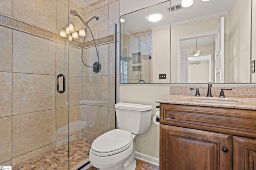
[(133, 134), (146, 132), (151, 123), (152, 106), (132, 103), (117, 103), (116, 121), (119, 129)]

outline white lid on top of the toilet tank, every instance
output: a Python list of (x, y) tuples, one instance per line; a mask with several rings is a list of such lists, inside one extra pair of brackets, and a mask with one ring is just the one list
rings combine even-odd
[(115, 105), (116, 109), (125, 109), (125, 110), (135, 110), (135, 111), (147, 111), (152, 110), (153, 106), (144, 105), (144, 104), (133, 104), (133, 103), (123, 103), (119, 102)]

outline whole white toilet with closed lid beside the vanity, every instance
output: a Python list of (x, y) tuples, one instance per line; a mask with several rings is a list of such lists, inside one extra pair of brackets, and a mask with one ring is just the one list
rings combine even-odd
[(119, 129), (108, 131), (92, 142), (90, 163), (100, 170), (135, 170), (134, 138), (149, 129), (152, 108), (149, 105), (117, 103)]

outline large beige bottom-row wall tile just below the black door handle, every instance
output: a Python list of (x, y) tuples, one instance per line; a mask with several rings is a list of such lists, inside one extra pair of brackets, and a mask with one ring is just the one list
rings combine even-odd
[(12, 157), (55, 142), (55, 109), (12, 117)]

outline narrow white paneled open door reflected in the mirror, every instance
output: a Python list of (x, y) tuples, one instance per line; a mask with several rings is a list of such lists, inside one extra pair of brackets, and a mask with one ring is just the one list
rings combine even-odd
[(224, 82), (224, 17), (220, 19), (215, 35), (215, 82)]

